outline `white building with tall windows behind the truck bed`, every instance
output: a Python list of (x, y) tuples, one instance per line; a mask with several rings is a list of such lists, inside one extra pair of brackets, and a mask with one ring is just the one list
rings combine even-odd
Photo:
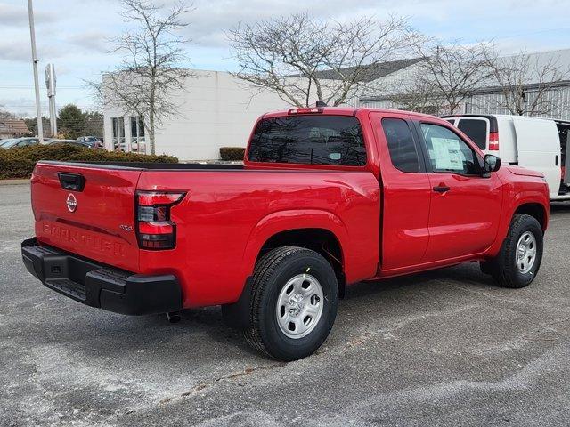
[[(219, 158), (220, 147), (245, 147), (256, 118), (288, 105), (271, 92), (260, 92), (229, 73), (192, 70), (183, 91), (173, 93), (179, 114), (168, 117), (156, 131), (156, 153), (180, 160)], [(144, 128), (132, 114), (107, 105), (103, 109), (107, 149), (136, 150)], [(141, 150), (145, 149), (141, 143)]]

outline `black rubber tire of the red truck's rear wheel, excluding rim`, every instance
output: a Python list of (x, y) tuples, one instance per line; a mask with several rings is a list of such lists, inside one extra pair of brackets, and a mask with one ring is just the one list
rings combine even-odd
[[(322, 314), (316, 326), (302, 338), (281, 331), (276, 310), (281, 289), (298, 274), (310, 271), (322, 287)], [(321, 254), (296, 246), (283, 246), (265, 254), (253, 276), (250, 325), (246, 341), (273, 359), (291, 361), (310, 356), (329, 336), (337, 317), (338, 282), (335, 271)]]

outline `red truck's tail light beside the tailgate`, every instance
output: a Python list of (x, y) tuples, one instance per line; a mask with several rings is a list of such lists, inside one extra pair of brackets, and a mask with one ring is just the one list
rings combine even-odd
[(186, 193), (137, 191), (136, 227), (142, 249), (172, 249), (176, 246), (176, 224), (170, 220), (170, 208)]

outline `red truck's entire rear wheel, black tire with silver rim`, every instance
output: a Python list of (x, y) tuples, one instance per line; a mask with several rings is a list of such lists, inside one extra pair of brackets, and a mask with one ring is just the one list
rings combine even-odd
[(274, 359), (303, 359), (317, 350), (337, 316), (335, 271), (321, 254), (284, 246), (265, 254), (253, 277), (248, 343)]

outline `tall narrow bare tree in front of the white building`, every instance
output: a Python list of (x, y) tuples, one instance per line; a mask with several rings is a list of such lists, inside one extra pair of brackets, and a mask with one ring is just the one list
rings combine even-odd
[(121, 65), (105, 74), (101, 83), (89, 84), (104, 104), (135, 113), (143, 118), (155, 154), (155, 133), (164, 119), (178, 114), (172, 93), (184, 86), (188, 69), (181, 68), (187, 60), (183, 44), (189, 40), (178, 36), (178, 30), (188, 24), (183, 15), (191, 6), (183, 2), (170, 8), (153, 4), (151, 0), (122, 0), (122, 17), (137, 28), (113, 39), (111, 52), (126, 54)]

